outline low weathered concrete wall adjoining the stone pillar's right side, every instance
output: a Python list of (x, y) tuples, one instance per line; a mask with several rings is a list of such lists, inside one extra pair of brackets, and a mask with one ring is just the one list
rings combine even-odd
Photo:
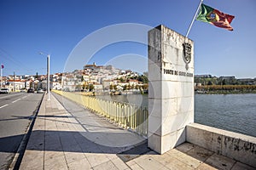
[(186, 127), (186, 139), (189, 143), (256, 167), (256, 138), (254, 137), (191, 123)]

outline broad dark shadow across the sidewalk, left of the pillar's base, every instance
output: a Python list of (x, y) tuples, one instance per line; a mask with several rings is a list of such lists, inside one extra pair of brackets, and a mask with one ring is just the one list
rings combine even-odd
[[(126, 137), (125, 137), (126, 136)], [(15, 138), (15, 137), (14, 137)], [(134, 148), (128, 133), (41, 131), (32, 132), (26, 150), (118, 154)], [(137, 141), (137, 145), (146, 140)]]

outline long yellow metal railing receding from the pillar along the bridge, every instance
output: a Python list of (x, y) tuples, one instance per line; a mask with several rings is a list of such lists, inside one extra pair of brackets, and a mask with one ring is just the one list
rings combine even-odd
[(138, 105), (121, 103), (118, 101), (98, 99), (96, 97), (85, 96), (72, 92), (52, 90), (55, 94), (60, 94), (67, 99), (83, 105), (105, 116), (108, 120), (116, 122), (119, 126), (130, 128), (136, 133), (147, 137), (148, 134), (148, 108)]

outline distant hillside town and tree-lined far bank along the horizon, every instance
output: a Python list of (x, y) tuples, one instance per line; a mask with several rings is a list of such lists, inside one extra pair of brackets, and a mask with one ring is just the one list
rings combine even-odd
[[(138, 77), (141, 77), (138, 78)], [(143, 76), (146, 77), (146, 76)], [(148, 78), (131, 70), (120, 70), (113, 65), (84, 65), (82, 70), (55, 73), (50, 75), (50, 89), (64, 91), (109, 92), (124, 90), (148, 90)], [(212, 75), (195, 75), (195, 86), (211, 84), (246, 84), (256, 85), (256, 78), (236, 79), (236, 77), (212, 77)], [(9, 91), (26, 91), (47, 88), (47, 75), (1, 77), (1, 88)]]

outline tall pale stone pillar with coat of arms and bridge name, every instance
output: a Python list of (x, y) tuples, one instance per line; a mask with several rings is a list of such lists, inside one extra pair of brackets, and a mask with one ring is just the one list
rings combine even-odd
[(163, 154), (194, 122), (194, 42), (166, 26), (148, 31), (148, 147)]

